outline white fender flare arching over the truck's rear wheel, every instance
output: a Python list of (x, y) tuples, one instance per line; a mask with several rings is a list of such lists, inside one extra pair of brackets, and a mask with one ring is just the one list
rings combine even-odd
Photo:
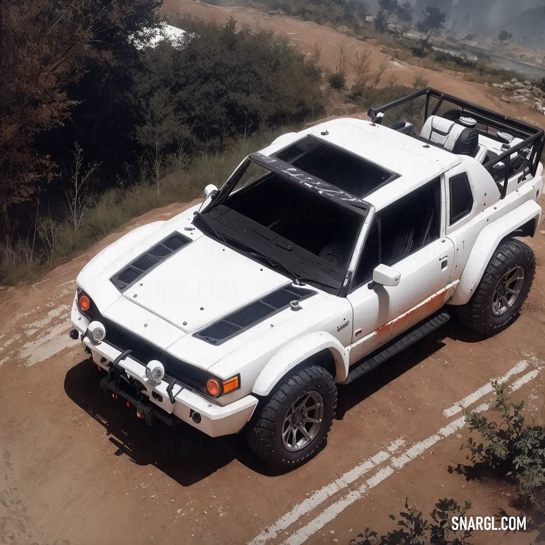
[(535, 201), (526, 201), (482, 229), (469, 254), (450, 304), (465, 305), (469, 301), (501, 240), (531, 220), (536, 220), (534, 232), (531, 234), (533, 237), (541, 221), (541, 207)]

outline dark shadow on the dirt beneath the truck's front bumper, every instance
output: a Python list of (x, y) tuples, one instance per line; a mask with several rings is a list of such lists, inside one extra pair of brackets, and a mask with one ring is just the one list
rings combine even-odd
[(246, 446), (242, 434), (212, 438), (185, 422), (174, 427), (162, 422), (147, 426), (136, 417), (134, 407), (126, 407), (124, 400), (112, 399), (102, 391), (102, 377), (92, 361), (84, 360), (66, 373), (64, 390), (74, 403), (104, 426), (112, 455), (128, 456), (138, 465), (153, 465), (181, 486), (205, 479), (234, 459), (263, 475), (285, 473), (257, 458)]

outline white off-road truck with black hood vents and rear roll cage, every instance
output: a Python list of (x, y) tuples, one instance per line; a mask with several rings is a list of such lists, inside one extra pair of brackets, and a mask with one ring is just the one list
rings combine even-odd
[[(421, 127), (386, 126), (396, 107), (421, 108)], [(295, 467), (324, 443), (338, 384), (452, 311), (482, 335), (516, 318), (543, 130), (431, 88), (369, 115), (284, 134), (84, 267), (70, 335), (102, 389), (149, 424), (244, 430)]]

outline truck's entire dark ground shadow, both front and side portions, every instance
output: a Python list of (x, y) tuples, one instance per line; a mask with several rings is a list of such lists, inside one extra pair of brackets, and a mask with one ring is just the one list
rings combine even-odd
[[(367, 373), (365, 378), (340, 386), (336, 420), (342, 420), (349, 409), (445, 346), (441, 342), (445, 337), (463, 342), (481, 340), (452, 320)], [(265, 476), (288, 473), (261, 461), (246, 445), (243, 434), (211, 438), (184, 422), (175, 427), (162, 422), (147, 426), (136, 417), (134, 407), (125, 407), (124, 401), (112, 399), (102, 391), (103, 376), (93, 362), (84, 360), (66, 373), (64, 390), (74, 403), (104, 426), (112, 455), (128, 456), (138, 465), (153, 465), (181, 486), (191, 486), (235, 459)]]

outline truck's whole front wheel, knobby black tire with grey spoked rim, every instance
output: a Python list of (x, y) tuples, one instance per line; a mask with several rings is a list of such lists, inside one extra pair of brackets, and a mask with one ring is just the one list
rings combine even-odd
[(284, 377), (247, 429), (251, 449), (265, 462), (294, 468), (312, 458), (325, 441), (335, 410), (337, 387), (317, 365)]

